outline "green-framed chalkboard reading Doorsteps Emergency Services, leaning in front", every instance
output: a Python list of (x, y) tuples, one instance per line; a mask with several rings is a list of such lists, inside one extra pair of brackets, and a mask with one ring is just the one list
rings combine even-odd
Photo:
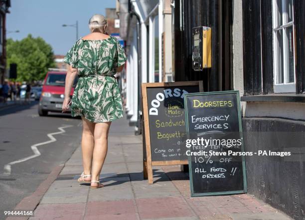
[(239, 92), (186, 94), (184, 106), (191, 196), (245, 193)]

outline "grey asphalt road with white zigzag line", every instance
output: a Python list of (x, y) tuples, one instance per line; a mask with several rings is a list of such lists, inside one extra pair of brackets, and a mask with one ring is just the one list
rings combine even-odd
[[(31, 195), (80, 145), (80, 119), (62, 113), (39, 117), (37, 107), (33, 102), (0, 109), (0, 216)], [(51, 133), (60, 134), (50, 139)], [(37, 146), (46, 141), (51, 143)], [(31, 146), (37, 146), (40, 155), (36, 151), (35, 156)]]

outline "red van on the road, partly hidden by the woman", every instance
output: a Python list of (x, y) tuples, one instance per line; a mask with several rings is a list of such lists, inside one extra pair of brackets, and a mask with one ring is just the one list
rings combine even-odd
[[(38, 114), (47, 116), (48, 112), (61, 112), (64, 99), (66, 72), (48, 72), (45, 76), (38, 105)], [(75, 79), (70, 97), (72, 98)], [(69, 112), (68, 112), (69, 113)]]

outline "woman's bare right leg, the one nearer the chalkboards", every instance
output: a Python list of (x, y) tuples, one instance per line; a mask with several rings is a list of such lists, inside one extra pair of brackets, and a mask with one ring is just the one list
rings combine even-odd
[[(107, 155), (110, 125), (111, 122), (97, 123), (95, 125), (91, 180), (99, 180), (100, 178), (100, 173)], [(91, 186), (98, 186), (98, 183), (92, 182)]]

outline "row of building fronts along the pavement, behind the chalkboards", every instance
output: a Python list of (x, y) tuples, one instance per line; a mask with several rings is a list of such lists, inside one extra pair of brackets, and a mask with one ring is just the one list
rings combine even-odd
[[(157, 81), (203, 80), (204, 91), (239, 90), (245, 150), (293, 153), (246, 157), (248, 192), (304, 219), (305, 1), (120, 0), (119, 7), (131, 125), (141, 129), (140, 86), (156, 81), (157, 44)], [(197, 26), (212, 31), (212, 65), (203, 71), (192, 69)]]

